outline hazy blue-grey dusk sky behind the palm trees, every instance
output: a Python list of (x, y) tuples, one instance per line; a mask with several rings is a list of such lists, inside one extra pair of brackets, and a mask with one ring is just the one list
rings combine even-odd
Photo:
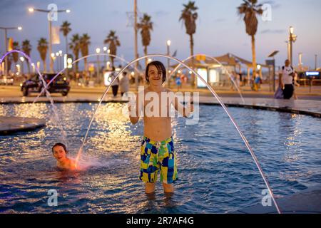
[[(148, 53), (165, 53), (166, 41), (170, 39), (171, 52), (177, 50), (176, 57), (184, 59), (189, 56), (189, 37), (185, 26), (178, 21), (185, 0), (138, 0), (138, 10), (151, 15), (154, 29), (151, 34), (151, 45)], [(237, 14), (236, 8), (241, 0), (196, 0), (198, 6), (197, 28), (194, 36), (194, 53), (205, 53), (210, 56), (221, 56), (233, 53), (249, 61), (252, 60), (250, 36), (245, 33), (243, 18)], [(73, 33), (88, 33), (91, 36), (90, 53), (96, 48), (103, 48), (103, 40), (108, 31), (116, 30), (121, 46), (118, 56), (131, 61), (134, 56), (133, 27), (126, 26), (126, 12), (133, 11), (133, 1), (125, 0), (0, 0), (0, 26), (22, 26), (22, 31), (9, 31), (9, 37), (15, 41), (29, 39), (33, 46), (31, 58), (39, 61), (36, 50), (37, 41), (41, 37), (48, 38), (48, 21), (46, 14), (34, 12), (30, 14), (29, 7), (46, 9), (54, 3), (58, 9), (71, 9), (71, 14), (59, 14), (54, 26), (60, 26), (63, 21), (71, 23)], [(259, 19), (256, 38), (258, 63), (265, 63), (269, 53), (279, 50), (275, 56), (280, 66), (287, 58), (288, 28), (293, 26), (297, 41), (293, 46), (293, 61), (298, 63), (298, 53), (302, 52), (302, 62), (305, 66), (314, 68), (315, 54), (318, 56), (317, 66), (321, 59), (321, 1), (320, 0), (280, 0), (259, 1), (272, 5), (272, 21)], [(54, 45), (53, 51), (66, 50), (65, 39), (61, 33), (61, 44)], [(4, 53), (4, 31), (0, 31), (0, 53)], [(138, 33), (138, 52), (143, 56), (141, 34)], [(94, 59), (93, 59), (94, 60)], [(48, 59), (47, 59), (48, 61)], [(164, 60), (165, 61), (165, 60)]]

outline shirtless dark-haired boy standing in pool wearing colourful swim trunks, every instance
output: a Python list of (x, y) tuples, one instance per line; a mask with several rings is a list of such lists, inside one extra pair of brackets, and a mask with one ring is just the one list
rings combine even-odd
[[(188, 117), (193, 112), (193, 105), (185, 108), (177, 97), (169, 98), (170, 90), (163, 88), (166, 70), (160, 61), (153, 61), (146, 66), (148, 87), (136, 95), (136, 105), (129, 105), (131, 123), (136, 124), (143, 113), (144, 136), (141, 142), (141, 175), (140, 180), (146, 183), (147, 194), (155, 191), (158, 170), (164, 192), (174, 192), (173, 182), (178, 178), (176, 155), (172, 138), (170, 105)], [(168, 96), (169, 95), (169, 96)], [(140, 103), (141, 100), (141, 103)], [(158, 102), (156, 102), (158, 101)], [(151, 103), (153, 105), (151, 108)], [(151, 110), (148, 111), (148, 108)], [(158, 109), (158, 110), (157, 110)], [(152, 113), (152, 114), (151, 114)]]

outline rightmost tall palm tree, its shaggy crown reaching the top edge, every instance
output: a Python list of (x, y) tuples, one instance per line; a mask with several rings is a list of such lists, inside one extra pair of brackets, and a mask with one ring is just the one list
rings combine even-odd
[(242, 16), (244, 14), (244, 22), (246, 27), (246, 33), (251, 36), (252, 41), (252, 64), (253, 64), (253, 77), (256, 73), (256, 54), (255, 54), (255, 33), (258, 30), (258, 19), (256, 14), (262, 15), (262, 4), (258, 4), (257, 0), (243, 0), (243, 4), (238, 6), (238, 14)]

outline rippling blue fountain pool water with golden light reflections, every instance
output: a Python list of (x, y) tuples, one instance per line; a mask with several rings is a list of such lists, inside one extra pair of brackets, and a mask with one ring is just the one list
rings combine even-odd
[[(76, 157), (96, 103), (57, 104)], [(123, 104), (106, 103), (89, 132), (77, 172), (56, 170), (51, 146), (60, 139), (49, 104), (0, 105), (0, 113), (46, 118), (46, 128), (0, 136), (0, 212), (228, 212), (257, 204), (265, 189), (252, 157), (218, 106), (201, 106), (198, 125), (172, 120), (179, 180), (169, 199), (155, 199), (138, 180), (143, 123), (131, 125)], [(257, 153), (275, 194), (290, 195), (321, 183), (320, 119), (229, 108)], [(58, 190), (58, 207), (46, 202)]]

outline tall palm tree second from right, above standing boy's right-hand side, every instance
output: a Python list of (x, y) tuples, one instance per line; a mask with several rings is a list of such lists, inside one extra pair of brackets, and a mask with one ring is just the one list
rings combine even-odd
[[(188, 4), (183, 4), (184, 9), (182, 10), (182, 14), (180, 14), (179, 21), (184, 21), (186, 33), (190, 36), (190, 56), (193, 56), (194, 51), (194, 41), (193, 41), (193, 34), (196, 31), (196, 19), (198, 19), (198, 13), (196, 13), (196, 10), (198, 9), (197, 6), (195, 6), (195, 1), (188, 1)], [(192, 58), (192, 67), (193, 67), (194, 59)], [(191, 81), (192, 86), (195, 86), (195, 76), (192, 75)]]

